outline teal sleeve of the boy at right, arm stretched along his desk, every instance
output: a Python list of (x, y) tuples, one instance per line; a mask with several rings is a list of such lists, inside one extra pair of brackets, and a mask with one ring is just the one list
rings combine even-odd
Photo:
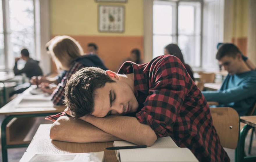
[(202, 94), (205, 96), (207, 101), (215, 101), (219, 104), (228, 104), (230, 102), (236, 102), (256, 95), (256, 91), (252, 91), (252, 89), (255, 89), (255, 84), (256, 80), (248, 79), (239, 86), (233, 88), (219, 91), (203, 91)]

